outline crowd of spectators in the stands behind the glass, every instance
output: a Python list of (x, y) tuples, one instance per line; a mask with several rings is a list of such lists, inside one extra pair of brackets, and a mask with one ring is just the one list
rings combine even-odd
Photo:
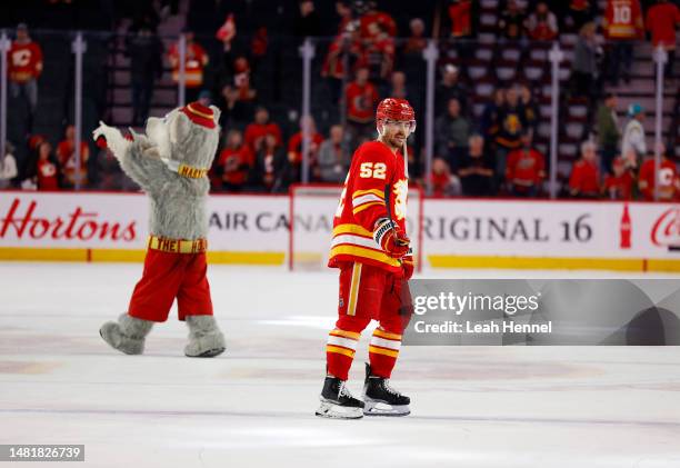
[[(526, 57), (532, 41), (552, 41), (563, 31), (578, 34), (567, 93), (570, 98), (582, 98), (592, 110), (592, 131), (583, 135), (580, 157), (566, 175), (560, 196), (653, 199), (654, 181), (659, 180), (661, 199), (680, 200), (680, 177), (672, 155), (674, 142), (648, 148), (641, 123), (646, 109), (631, 104), (627, 121), (621, 122), (616, 112), (617, 96), (602, 91), (608, 83), (630, 81), (636, 41), (643, 40), (646, 34), (654, 47), (667, 50), (666, 76), (671, 86), (677, 84), (672, 67), (676, 28), (680, 24), (678, 6), (669, 0), (642, 3), (608, 0), (600, 11), (592, 0), (559, 2), (559, 7), (554, 3), (500, 1), (493, 53), (497, 58), (503, 47), (513, 44)], [(622, 4), (628, 8), (623, 20)], [(383, 7), (389, 10), (388, 3)], [(444, 36), (440, 48), (453, 48), (457, 57), (472, 53), (479, 8), (473, 0), (448, 2), (449, 29), (440, 34)], [(442, 53), (434, 92), (434, 159), (431, 172), (424, 173), (421, 131), (424, 90), (413, 83), (417, 81), (413, 63), (417, 73), (422, 74), (422, 52), (432, 34), (426, 20), (411, 18), (400, 30), (394, 18), (374, 1), (337, 1), (336, 11), (337, 23), (329, 28), (321, 21), (314, 1), (301, 0), (290, 28), (298, 43), (306, 37), (334, 37), (328, 47), (317, 50), (323, 60), (314, 80), (328, 88), (330, 106), (338, 112), (336, 121), (323, 129), (317, 128), (312, 117), (296, 117), (296, 129), (271, 117), (269, 102), (257, 89), (256, 79), (262, 79), (258, 76), (259, 64), (270, 53), (267, 27), (252, 28), (246, 39), (246, 34), (238, 32), (239, 19), (229, 14), (212, 31), (219, 43), (218, 53), (211, 53), (210, 44), (201, 43), (199, 36), (184, 29), (186, 99), (212, 103), (222, 110), (223, 141), (210, 171), (214, 191), (286, 192), (291, 183), (301, 180), (303, 147), (309, 149), (311, 181), (342, 183), (353, 149), (376, 137), (377, 103), (391, 96), (409, 99), (417, 111), (419, 132), (408, 148), (409, 172), (414, 182), (431, 183), (434, 196), (547, 196), (549, 161), (534, 145), (540, 112), (531, 82), (498, 81), (481, 114), (476, 117), (470, 92), (473, 79), (464, 69), (467, 62), (450, 60)], [(163, 72), (163, 61), (171, 68), (172, 79), (179, 80), (179, 42), (163, 51), (156, 32), (158, 22), (153, 14), (141, 14), (128, 31), (126, 53), (131, 61), (134, 126), (142, 126), (149, 116), (153, 86)], [(26, 24), (17, 28), (9, 59), (10, 91), (14, 98), (27, 100), (32, 119), (38, 106), (36, 83), (42, 56)], [(309, 136), (306, 145), (303, 135)], [(89, 163), (90, 147), (84, 141), (78, 168), (72, 126), (66, 128), (64, 139), (56, 149), (40, 135), (31, 135), (27, 145), (31, 156), (22, 165), (11, 156), (12, 146), (7, 146), (0, 188), (92, 187), (87, 175), (97, 170), (104, 176), (98, 178), (93, 188), (133, 189), (132, 182), (123, 181), (116, 161), (106, 151), (93, 155), (96, 165)], [(662, 155), (659, 177), (653, 173), (656, 150)]]

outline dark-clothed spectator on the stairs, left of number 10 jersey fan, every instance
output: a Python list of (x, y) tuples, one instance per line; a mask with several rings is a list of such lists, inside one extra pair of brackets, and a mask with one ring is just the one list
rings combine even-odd
[(594, 84), (598, 73), (596, 59), (598, 44), (596, 43), (594, 32), (594, 22), (588, 22), (581, 27), (573, 51), (573, 62), (571, 63), (572, 94), (587, 98), (589, 101), (597, 94)]

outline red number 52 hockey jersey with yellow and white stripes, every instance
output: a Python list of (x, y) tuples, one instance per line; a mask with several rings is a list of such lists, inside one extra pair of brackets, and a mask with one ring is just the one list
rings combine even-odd
[(373, 240), (373, 227), (380, 218), (391, 218), (406, 232), (408, 192), (403, 156), (380, 141), (361, 145), (352, 157), (336, 211), (328, 266), (360, 262), (400, 272), (402, 262), (412, 265), (412, 255), (391, 258)]

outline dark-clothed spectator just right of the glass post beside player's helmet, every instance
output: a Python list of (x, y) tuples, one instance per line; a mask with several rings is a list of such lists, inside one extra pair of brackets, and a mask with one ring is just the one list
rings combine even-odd
[(470, 122), (460, 114), (458, 99), (449, 99), (448, 112), (437, 119), (434, 128), (437, 155), (450, 167), (457, 168), (466, 153), (471, 132)]

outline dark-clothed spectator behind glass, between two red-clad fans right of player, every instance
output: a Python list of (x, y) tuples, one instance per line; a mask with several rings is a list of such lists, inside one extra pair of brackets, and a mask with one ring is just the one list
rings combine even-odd
[(458, 178), (466, 197), (490, 197), (493, 190), (493, 169), (484, 151), (484, 139), (473, 135), (468, 141), (468, 153), (458, 168)]

